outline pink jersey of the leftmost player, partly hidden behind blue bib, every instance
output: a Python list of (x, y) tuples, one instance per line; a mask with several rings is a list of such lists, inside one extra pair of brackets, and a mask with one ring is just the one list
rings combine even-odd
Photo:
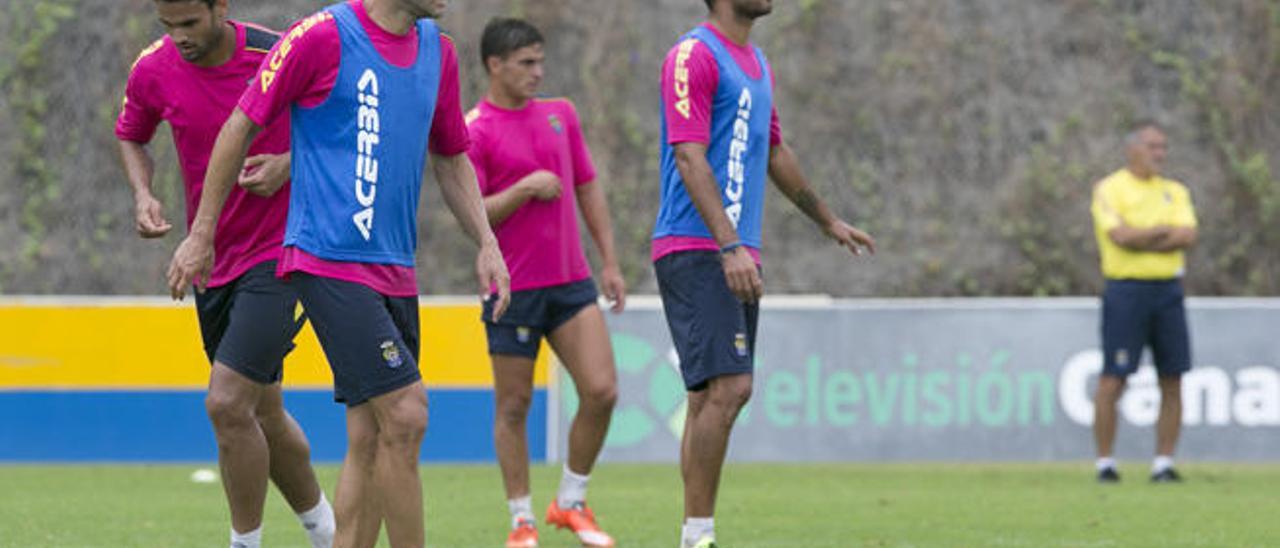
[[(187, 63), (168, 36), (143, 50), (129, 73), (124, 109), (115, 122), (119, 140), (138, 143), (150, 142), (161, 122), (169, 123), (186, 183), (188, 229), (200, 206), (200, 191), (218, 132), (253, 79), (268, 49), (279, 38), (260, 27), (236, 20), (230, 24), (236, 28), (236, 52), (218, 67)], [(248, 149), (250, 155), (288, 151), (287, 117), (268, 125)], [(224, 286), (262, 261), (279, 259), (288, 209), (288, 186), (268, 198), (233, 188), (218, 219), (209, 284)]]

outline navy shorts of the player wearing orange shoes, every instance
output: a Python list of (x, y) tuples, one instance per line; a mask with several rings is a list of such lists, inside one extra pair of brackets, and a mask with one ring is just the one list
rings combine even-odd
[(543, 337), (573, 319), (582, 309), (595, 305), (599, 293), (590, 278), (538, 289), (511, 293), (507, 311), (493, 323), (493, 300), (484, 302), (484, 330), (489, 353), (538, 359)]

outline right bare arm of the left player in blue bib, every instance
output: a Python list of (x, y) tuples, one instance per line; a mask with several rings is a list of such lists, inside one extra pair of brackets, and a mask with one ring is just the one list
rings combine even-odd
[(493, 318), (497, 321), (511, 303), (511, 274), (507, 273), (507, 262), (502, 259), (498, 238), (489, 227), (475, 168), (463, 152), (453, 156), (433, 154), (431, 169), (435, 172), (435, 181), (440, 184), (440, 193), (444, 195), (449, 211), (453, 211), (467, 237), (480, 245), (480, 252), (476, 255), (480, 294), (488, 297), (490, 287), (498, 288), (498, 302), (493, 306)]

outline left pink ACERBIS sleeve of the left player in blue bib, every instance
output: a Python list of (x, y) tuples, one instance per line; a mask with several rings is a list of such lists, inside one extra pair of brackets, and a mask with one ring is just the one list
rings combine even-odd
[(338, 82), (342, 37), (333, 14), (321, 12), (293, 24), (262, 59), (257, 77), (241, 96), (239, 109), (261, 127), (294, 102), (324, 102)]

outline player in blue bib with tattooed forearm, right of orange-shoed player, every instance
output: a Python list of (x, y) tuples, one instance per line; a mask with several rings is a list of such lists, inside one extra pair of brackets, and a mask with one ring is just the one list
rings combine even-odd
[(684, 547), (716, 545), (713, 515), (730, 431), (751, 394), (764, 292), (764, 182), (855, 255), (867, 233), (814, 195), (773, 106), (773, 72), (750, 44), (772, 0), (705, 0), (709, 20), (686, 33), (662, 69), (662, 206), (653, 260), (689, 391), (681, 446)]

